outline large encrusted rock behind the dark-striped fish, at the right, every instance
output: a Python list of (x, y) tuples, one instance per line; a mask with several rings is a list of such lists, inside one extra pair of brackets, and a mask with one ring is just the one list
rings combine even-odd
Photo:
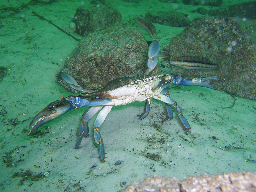
[(170, 58), (203, 56), (223, 61), (219, 71), (202, 72), (171, 66), (172, 73), (215, 76), (214, 87), (250, 100), (256, 100), (255, 20), (239, 18), (196, 18), (171, 40)]

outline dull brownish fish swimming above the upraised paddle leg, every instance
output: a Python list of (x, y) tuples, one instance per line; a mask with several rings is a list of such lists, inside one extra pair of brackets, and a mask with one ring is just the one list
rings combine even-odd
[(148, 32), (148, 35), (152, 38), (155, 39), (156, 38), (156, 28), (155, 26), (151, 23), (150, 20), (148, 20), (145, 17), (138, 17), (138, 15), (136, 15), (132, 20), (135, 20), (137, 22), (137, 24), (143, 28), (145, 31)]

